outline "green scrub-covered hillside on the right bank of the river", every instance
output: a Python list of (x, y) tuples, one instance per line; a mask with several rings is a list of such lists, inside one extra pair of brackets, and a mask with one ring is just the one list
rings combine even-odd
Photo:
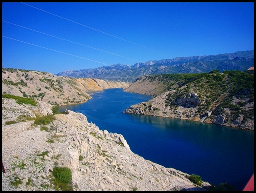
[(126, 113), (201, 120), (254, 130), (254, 74), (214, 70), (147, 75), (125, 91), (155, 96), (127, 108)]

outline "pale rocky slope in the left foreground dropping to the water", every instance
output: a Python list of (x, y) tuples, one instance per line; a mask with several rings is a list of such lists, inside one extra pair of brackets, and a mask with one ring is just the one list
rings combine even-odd
[[(51, 106), (44, 103), (32, 107), (16, 105), (13, 99), (2, 101), (4, 117), (33, 116), (40, 109), (52, 114)], [(10, 111), (14, 106), (16, 110)], [(31, 121), (2, 123), (3, 131), (10, 130), (2, 137), (6, 170), (2, 191), (55, 190), (52, 171), (56, 166), (71, 169), (73, 190), (206, 190), (210, 186), (206, 182), (195, 185), (188, 180), (189, 174), (134, 154), (121, 134), (100, 130), (81, 113), (67, 110), (54, 118), (37, 126)], [(23, 129), (12, 133), (15, 127)]]

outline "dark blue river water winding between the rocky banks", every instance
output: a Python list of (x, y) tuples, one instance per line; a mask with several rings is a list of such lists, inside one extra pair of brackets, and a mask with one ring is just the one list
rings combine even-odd
[(122, 88), (90, 92), (84, 104), (61, 106), (86, 115), (100, 130), (122, 134), (130, 149), (164, 167), (243, 190), (254, 173), (254, 131), (181, 119), (122, 113), (151, 96)]

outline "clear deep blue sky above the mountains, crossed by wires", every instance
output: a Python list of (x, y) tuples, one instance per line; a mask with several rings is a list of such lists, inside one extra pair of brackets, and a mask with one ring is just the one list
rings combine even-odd
[(57, 74), (253, 49), (253, 2), (2, 2), (6, 68)]

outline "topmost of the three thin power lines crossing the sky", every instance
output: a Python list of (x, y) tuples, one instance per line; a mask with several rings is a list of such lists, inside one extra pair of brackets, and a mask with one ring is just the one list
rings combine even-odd
[[(31, 5), (29, 5), (29, 4), (25, 4), (25, 3), (23, 3), (23, 2), (21, 2), (21, 3), (22, 3), (22, 4), (24, 4), (24, 5), (30, 6), (30, 7), (32, 7), (32, 8), (38, 9), (38, 10), (40, 10), (40, 11), (46, 12), (46, 13), (48, 13), (48, 14), (51, 14), (51, 15), (53, 15), (53, 16), (56, 16), (56, 17), (59, 17), (59, 18), (62, 18), (62, 19), (68, 20), (68, 21), (73, 22), (73, 23), (76, 23), (76, 24), (78, 24), (78, 25), (81, 25), (81, 26), (84, 26), (84, 27), (90, 28), (90, 29), (92, 29), (92, 30), (95, 30), (95, 31), (101, 32), (101, 33), (103, 33), (103, 34), (106, 34), (106, 35), (112, 36), (112, 37), (114, 37), (114, 38), (117, 38), (117, 39), (120, 39), (120, 40), (123, 40), (123, 41), (129, 42), (129, 43), (132, 43), (132, 44), (134, 44), (134, 45), (137, 45), (137, 46), (140, 46), (140, 47), (143, 47), (143, 48), (146, 48), (146, 49), (149, 49), (149, 50), (152, 50), (152, 51), (155, 51), (155, 52), (161, 53), (161, 52), (159, 52), (159, 51), (157, 51), (157, 50), (154, 50), (154, 49), (151, 49), (151, 48), (145, 47), (145, 46), (143, 46), (143, 45), (140, 45), (140, 44), (137, 44), (137, 43), (134, 43), (134, 42), (131, 42), (131, 41), (125, 40), (125, 39), (123, 39), (123, 38), (120, 38), (120, 37), (117, 37), (117, 36), (111, 35), (111, 34), (109, 34), (109, 33), (106, 33), (106, 32), (100, 31), (100, 30), (97, 30), (97, 29), (95, 29), (95, 28), (92, 28), (92, 27), (86, 26), (86, 25), (84, 25), (84, 24), (81, 24), (81, 23), (75, 22), (75, 21), (73, 21), (73, 20), (70, 20), (70, 19), (67, 19), (67, 18), (61, 17), (61, 16), (56, 15), (56, 14), (53, 14), (53, 13), (51, 13), (51, 12), (47, 12), (47, 11), (45, 11), (45, 10), (39, 9), (39, 8), (34, 7), (34, 6), (31, 6)], [(165, 53), (161, 53), (161, 54), (165, 54)], [(167, 55), (167, 54), (165, 54), (165, 55)]]

